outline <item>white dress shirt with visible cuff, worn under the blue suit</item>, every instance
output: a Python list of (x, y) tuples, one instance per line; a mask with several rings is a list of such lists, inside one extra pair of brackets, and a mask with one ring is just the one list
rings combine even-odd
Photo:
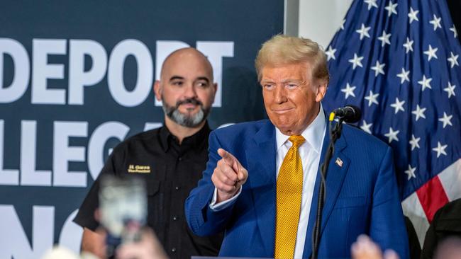
[[(302, 258), (304, 252), (304, 242), (306, 241), (307, 225), (309, 222), (309, 212), (311, 211), (311, 202), (313, 196), (313, 188), (316, 183), (316, 175), (318, 165), (320, 163), (321, 150), (323, 146), (323, 138), (326, 133), (326, 119), (323, 108), (311, 124), (304, 129), (301, 135), (306, 141), (299, 146), (299, 156), (303, 165), (303, 193), (301, 195), (301, 210), (299, 214), (298, 233), (296, 234), (296, 245), (294, 248), (294, 258)], [(292, 143), (288, 140), (289, 136), (282, 134), (277, 127), (275, 128), (275, 139), (277, 142), (277, 156), (276, 156), (276, 173), (279, 176), (280, 167), (287, 155)], [(248, 172), (251, 173), (251, 172)], [(238, 195), (240, 195), (241, 188), (238, 193), (229, 200), (219, 202), (216, 204), (216, 188), (214, 190), (213, 199), (210, 202), (210, 209), (215, 211), (226, 208), (230, 205)]]

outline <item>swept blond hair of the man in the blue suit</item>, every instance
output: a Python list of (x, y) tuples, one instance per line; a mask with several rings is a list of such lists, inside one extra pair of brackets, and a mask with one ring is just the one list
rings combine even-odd
[(323, 79), (328, 83), (330, 75), (326, 54), (317, 42), (287, 35), (275, 35), (262, 44), (255, 59), (257, 79), (261, 80), (261, 71), (265, 66), (277, 67), (300, 62), (309, 62), (313, 79)]

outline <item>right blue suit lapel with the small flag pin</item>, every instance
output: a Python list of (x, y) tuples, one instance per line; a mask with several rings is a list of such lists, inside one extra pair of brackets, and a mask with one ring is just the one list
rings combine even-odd
[[(330, 136), (328, 134), (328, 121), (326, 127), (325, 138), (323, 139), (322, 154), (320, 164), (318, 166), (316, 183), (313, 190), (311, 211), (309, 213), (309, 222), (307, 226), (306, 241), (304, 243), (303, 258), (309, 258), (312, 253), (312, 232), (316, 222), (317, 205), (318, 205), (318, 190), (321, 184), (321, 164), (325, 161), (326, 150), (330, 144)], [(326, 202), (323, 207), (321, 233), (325, 229), (328, 218), (330, 217), (333, 206), (338, 199), (339, 192), (343, 186), (344, 178), (348, 173), (350, 159), (343, 154), (343, 149), (347, 146), (344, 137), (340, 137), (335, 143), (335, 151), (331, 157), (326, 175)]]

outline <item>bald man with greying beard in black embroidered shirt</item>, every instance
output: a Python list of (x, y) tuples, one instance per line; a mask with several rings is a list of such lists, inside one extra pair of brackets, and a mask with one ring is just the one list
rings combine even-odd
[(160, 81), (154, 85), (155, 97), (162, 100), (165, 124), (113, 149), (74, 219), (84, 228), (82, 251), (106, 256), (104, 236), (96, 233), (99, 222), (94, 212), (99, 207), (101, 175), (109, 174), (145, 180), (147, 223), (170, 258), (218, 254), (221, 236), (192, 234), (184, 217), (184, 201), (206, 168), (210, 133), (206, 117), (216, 88), (211, 64), (198, 50), (184, 48), (165, 59)]

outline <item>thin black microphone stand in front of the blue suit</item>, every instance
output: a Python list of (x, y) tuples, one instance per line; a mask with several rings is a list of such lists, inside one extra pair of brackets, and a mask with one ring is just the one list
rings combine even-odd
[(329, 134), (330, 134), (330, 144), (326, 150), (325, 161), (321, 165), (321, 185), (318, 190), (318, 201), (317, 201), (317, 213), (316, 213), (316, 224), (313, 229), (312, 237), (312, 259), (317, 259), (318, 255), (318, 245), (320, 244), (321, 238), (321, 222), (322, 222), (322, 211), (323, 205), (325, 205), (326, 200), (326, 173), (328, 172), (328, 165), (330, 164), (331, 157), (335, 151), (335, 142), (341, 137), (341, 130), (343, 130), (343, 118), (338, 119), (338, 123), (332, 127), (332, 121), (335, 117), (334, 113), (330, 114), (329, 118)]

